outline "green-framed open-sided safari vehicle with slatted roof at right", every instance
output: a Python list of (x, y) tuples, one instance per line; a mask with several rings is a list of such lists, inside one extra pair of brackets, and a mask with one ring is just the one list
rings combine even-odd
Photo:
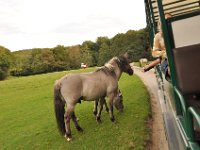
[[(169, 149), (200, 149), (200, 0), (144, 4), (150, 47), (160, 20), (169, 63), (170, 82), (155, 67)], [(173, 17), (165, 20), (166, 13)]]

